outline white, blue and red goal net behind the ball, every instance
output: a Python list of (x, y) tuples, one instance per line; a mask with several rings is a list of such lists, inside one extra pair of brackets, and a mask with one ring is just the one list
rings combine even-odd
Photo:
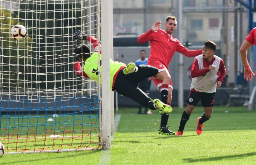
[[(0, 142), (8, 153), (100, 147), (98, 84), (75, 74), (73, 34), (97, 38), (96, 0), (1, 0)], [(15, 41), (14, 25), (27, 36)], [(89, 47), (92, 45), (83, 41)]]

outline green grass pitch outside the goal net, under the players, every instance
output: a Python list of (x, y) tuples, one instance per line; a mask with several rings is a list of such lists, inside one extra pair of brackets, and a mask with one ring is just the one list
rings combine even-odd
[[(119, 108), (117, 132), (106, 151), (4, 155), (1, 165), (27, 164), (255, 164), (256, 111), (247, 107), (215, 106), (211, 119), (197, 135), (196, 119), (203, 107), (198, 106), (188, 120), (182, 137), (157, 133), (160, 114), (136, 115), (137, 108)], [(184, 109), (173, 108), (169, 129), (177, 132)], [(225, 113), (228, 111), (228, 113)], [(102, 160), (103, 159), (103, 160)]]

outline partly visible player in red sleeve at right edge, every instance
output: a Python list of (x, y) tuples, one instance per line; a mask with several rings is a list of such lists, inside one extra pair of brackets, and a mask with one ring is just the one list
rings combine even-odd
[[(242, 44), (242, 46), (240, 47), (240, 55), (241, 55), (241, 59), (242, 59), (242, 62), (244, 64), (244, 78), (246, 79), (246, 81), (251, 81), (252, 79), (252, 75), (255, 76), (255, 74), (252, 72), (251, 70), (251, 67), (248, 63), (248, 60), (247, 60), (247, 50), (256, 43), (256, 31), (255, 31), (255, 28), (254, 27), (249, 35), (245, 38), (245, 41), (244, 43)], [(256, 63), (255, 63), (256, 65)], [(256, 71), (255, 71), (256, 73)]]

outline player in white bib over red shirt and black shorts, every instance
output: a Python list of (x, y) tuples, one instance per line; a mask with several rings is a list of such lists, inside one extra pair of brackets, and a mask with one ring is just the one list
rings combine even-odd
[(187, 107), (181, 116), (179, 130), (176, 136), (182, 136), (187, 120), (196, 107), (199, 100), (202, 102), (204, 112), (202, 117), (197, 118), (197, 134), (203, 131), (203, 122), (210, 119), (214, 107), (214, 96), (216, 89), (221, 87), (226, 69), (223, 60), (214, 55), (216, 44), (206, 41), (203, 46), (203, 54), (195, 58), (191, 77), (192, 83), (187, 99)]

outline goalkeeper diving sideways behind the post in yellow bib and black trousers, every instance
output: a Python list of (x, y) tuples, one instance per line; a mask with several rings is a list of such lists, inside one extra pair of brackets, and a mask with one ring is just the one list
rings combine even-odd
[[(90, 80), (98, 82), (98, 40), (95, 37), (86, 35), (85, 33), (77, 30), (74, 39), (78, 42), (87, 40), (93, 44), (94, 52), (84, 44), (77, 46), (75, 52), (75, 72), (78, 75), (85, 76)], [(101, 47), (101, 46), (100, 46)], [(81, 67), (79, 61), (84, 66)], [(100, 72), (101, 72), (101, 54), (100, 54)], [(154, 101), (149, 98), (141, 89), (138, 83), (149, 77), (155, 76), (158, 69), (149, 65), (138, 65), (129, 63), (127, 66), (123, 63), (114, 62), (110, 59), (110, 89), (117, 91), (117, 93), (137, 101), (141, 105), (149, 109), (161, 109), (165, 113), (171, 113), (171, 106), (162, 103), (160, 100)], [(101, 79), (100, 79), (100, 83)]]

